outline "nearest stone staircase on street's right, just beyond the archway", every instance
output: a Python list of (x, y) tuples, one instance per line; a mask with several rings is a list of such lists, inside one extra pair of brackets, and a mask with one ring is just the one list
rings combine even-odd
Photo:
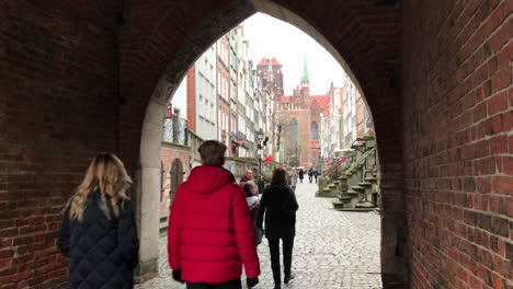
[(333, 183), (323, 189), (323, 195), (337, 197), (333, 207), (338, 210), (372, 211), (378, 208), (378, 165), (374, 137), (357, 139), (353, 163)]

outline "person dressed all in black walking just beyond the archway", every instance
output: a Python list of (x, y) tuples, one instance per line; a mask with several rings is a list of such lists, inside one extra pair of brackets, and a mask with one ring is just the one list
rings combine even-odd
[(294, 236), (296, 235), (296, 211), (299, 205), (296, 195), (287, 185), (287, 171), (274, 169), (271, 185), (267, 186), (260, 200), (256, 227), (262, 228), (265, 215), (265, 238), (271, 252), (271, 268), (273, 269), (274, 288), (282, 288), (280, 274), (280, 239), (283, 242), (284, 282), (288, 284), (295, 276), (292, 273), (292, 254)]

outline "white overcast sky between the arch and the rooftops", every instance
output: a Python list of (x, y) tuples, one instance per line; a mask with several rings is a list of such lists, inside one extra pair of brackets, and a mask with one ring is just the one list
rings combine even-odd
[(255, 65), (262, 57), (276, 57), (283, 65), (285, 95), (290, 95), (293, 89), (299, 85), (305, 54), (310, 94), (326, 94), (331, 81), (335, 86), (341, 86), (344, 76), (342, 67), (330, 53), (296, 26), (263, 13), (254, 14), (242, 25), (244, 38), (250, 45), (250, 58)]

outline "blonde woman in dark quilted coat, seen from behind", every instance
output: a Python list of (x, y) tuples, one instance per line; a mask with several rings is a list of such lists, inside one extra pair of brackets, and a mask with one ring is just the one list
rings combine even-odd
[(67, 288), (133, 288), (139, 240), (132, 178), (111, 153), (100, 153), (65, 208), (57, 246), (69, 257)]

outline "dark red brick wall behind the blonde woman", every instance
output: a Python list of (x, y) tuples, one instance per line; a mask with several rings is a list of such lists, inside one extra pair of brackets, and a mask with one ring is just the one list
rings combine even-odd
[(116, 152), (115, 9), (0, 4), (0, 288), (64, 288), (55, 236), (92, 157)]

